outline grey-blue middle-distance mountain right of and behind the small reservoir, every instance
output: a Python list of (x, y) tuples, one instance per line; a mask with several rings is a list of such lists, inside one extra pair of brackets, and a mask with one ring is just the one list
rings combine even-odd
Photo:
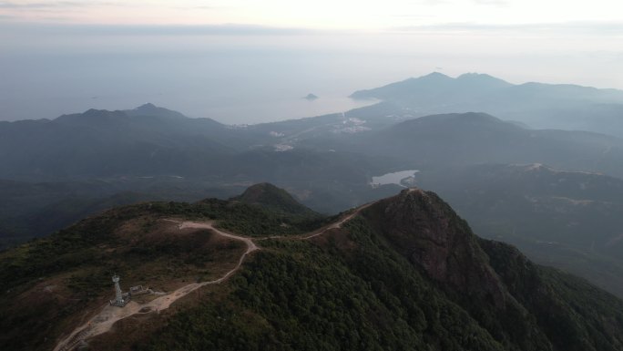
[(563, 170), (623, 176), (623, 139), (603, 134), (524, 129), (485, 113), (411, 119), (352, 145), (426, 168), (475, 163), (546, 163)]

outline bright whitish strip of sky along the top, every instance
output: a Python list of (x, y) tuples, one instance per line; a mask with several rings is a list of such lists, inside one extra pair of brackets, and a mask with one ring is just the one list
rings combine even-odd
[(448, 23), (480, 25), (619, 21), (618, 0), (8, 0), (21, 21), (97, 24), (295, 26), (379, 30)]

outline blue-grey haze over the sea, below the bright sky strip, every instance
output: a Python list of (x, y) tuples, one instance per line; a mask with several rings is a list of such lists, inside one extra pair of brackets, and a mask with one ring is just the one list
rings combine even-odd
[[(564, 42), (549, 49), (527, 37), (508, 46), (502, 36), (132, 35), (82, 27), (60, 34), (31, 28), (11, 36), (10, 26), (0, 29), (5, 48), (0, 50), (0, 120), (54, 119), (146, 102), (226, 124), (299, 119), (371, 104), (347, 97), (435, 70), (600, 88), (618, 88), (619, 79), (604, 74), (617, 72), (618, 60), (598, 40), (587, 56)], [(304, 99), (309, 93), (320, 98)]]

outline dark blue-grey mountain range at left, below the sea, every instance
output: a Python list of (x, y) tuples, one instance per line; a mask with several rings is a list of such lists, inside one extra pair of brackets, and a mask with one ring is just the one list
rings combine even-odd
[[(149, 113), (149, 115), (146, 115)], [(103, 175), (175, 175), (229, 155), (234, 136), (211, 119), (189, 119), (145, 105), (90, 109), (57, 119), (0, 124), (3, 178), (71, 179)], [(227, 140), (227, 144), (224, 144)]]

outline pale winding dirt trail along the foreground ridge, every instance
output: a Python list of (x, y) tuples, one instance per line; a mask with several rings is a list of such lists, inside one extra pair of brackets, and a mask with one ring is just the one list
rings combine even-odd
[[(356, 209), (354, 212), (352, 212), (348, 216), (342, 218), (341, 221), (334, 222), (316, 232), (311, 232), (311, 234), (303, 235), (299, 237), (299, 239), (308, 240), (315, 236), (322, 235), (323, 233), (330, 231), (332, 229), (341, 228), (344, 222), (350, 221), (352, 217), (357, 215), (359, 212), (361, 212), (363, 209), (370, 206), (371, 204), (372, 203), (365, 204), (359, 207), (358, 209)], [(240, 269), (240, 265), (242, 264), (245, 257), (249, 253), (259, 250), (258, 246), (255, 243), (253, 243), (253, 241), (250, 238), (239, 236), (239, 235), (234, 235), (229, 232), (221, 232), (219, 229), (214, 228), (213, 222), (189, 222), (189, 221), (179, 222), (179, 221), (173, 221), (173, 220), (166, 220), (166, 221), (179, 223), (178, 225), (179, 230), (186, 229), (186, 228), (208, 229), (210, 231), (218, 233), (221, 236), (234, 239), (234, 240), (240, 240), (241, 242), (244, 242), (247, 244), (247, 251), (240, 256), (240, 260), (238, 261), (238, 263), (232, 270), (230, 270), (227, 274), (221, 276), (217, 280), (184, 285), (180, 287), (178, 290), (172, 292), (171, 294), (160, 296), (146, 304), (139, 305), (138, 303), (134, 301), (130, 301), (128, 305), (122, 308), (112, 306), (112, 305), (104, 305), (102, 308), (102, 311), (99, 314), (91, 318), (86, 324), (78, 326), (69, 336), (67, 336), (65, 339), (63, 339), (60, 343), (56, 345), (56, 347), (54, 348), (54, 351), (73, 350), (78, 344), (84, 342), (88, 338), (106, 333), (108, 330), (110, 330), (112, 325), (114, 325), (117, 321), (121, 319), (127, 318), (130, 315), (159, 312), (161, 310), (169, 308), (169, 306), (173, 304), (174, 302), (176, 302), (177, 300), (179, 300), (179, 298), (184, 297), (189, 293), (192, 293), (193, 291), (199, 289), (202, 286), (209, 285), (209, 284), (220, 284), (221, 282), (227, 280), (231, 276), (231, 274), (236, 273), (236, 271)], [(277, 239), (280, 237), (271, 237), (271, 238)], [(284, 238), (287, 238), (287, 237), (284, 237)]]

